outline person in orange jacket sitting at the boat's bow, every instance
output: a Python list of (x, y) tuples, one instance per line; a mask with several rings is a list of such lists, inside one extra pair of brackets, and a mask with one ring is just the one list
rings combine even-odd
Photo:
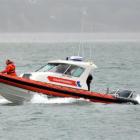
[(17, 76), (15, 69), (16, 66), (14, 65), (14, 63), (8, 59), (6, 60), (6, 67), (3, 71), (1, 71), (1, 73), (6, 73), (11, 76)]

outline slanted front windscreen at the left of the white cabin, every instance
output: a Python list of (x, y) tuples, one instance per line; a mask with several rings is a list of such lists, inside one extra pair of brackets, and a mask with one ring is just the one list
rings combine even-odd
[(57, 63), (48, 63), (47, 65), (41, 67), (39, 70), (37, 70), (38, 72), (46, 72), (46, 71), (50, 71), (51, 69), (53, 69), (54, 67), (56, 67), (58, 64)]

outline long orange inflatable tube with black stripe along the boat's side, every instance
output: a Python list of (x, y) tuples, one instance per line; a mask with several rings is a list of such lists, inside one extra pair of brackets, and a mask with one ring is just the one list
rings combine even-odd
[(0, 83), (57, 97), (84, 98), (91, 102), (100, 103), (127, 103), (132, 101), (132, 103), (137, 104), (137, 102), (134, 100), (118, 98), (111, 94), (103, 94), (81, 89), (63, 87), (5, 74), (0, 74)]

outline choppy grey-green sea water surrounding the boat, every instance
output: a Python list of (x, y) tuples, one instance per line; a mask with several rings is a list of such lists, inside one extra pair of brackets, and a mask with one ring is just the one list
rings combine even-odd
[[(139, 42), (1, 43), (0, 69), (12, 59), (17, 73), (48, 60), (82, 55), (98, 66), (92, 90), (130, 89), (140, 94)], [(140, 106), (95, 104), (35, 95), (20, 106), (0, 98), (0, 140), (139, 140)]]

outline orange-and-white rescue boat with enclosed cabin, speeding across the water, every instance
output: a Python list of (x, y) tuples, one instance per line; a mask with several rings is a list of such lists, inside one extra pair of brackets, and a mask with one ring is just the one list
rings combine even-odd
[(67, 60), (49, 61), (35, 72), (21, 74), (20, 77), (0, 74), (0, 94), (16, 104), (30, 101), (35, 93), (99, 103), (138, 104), (133, 92), (128, 90), (111, 93), (89, 91), (88, 78), (95, 68), (93, 62), (83, 62), (82, 57), (72, 56)]

